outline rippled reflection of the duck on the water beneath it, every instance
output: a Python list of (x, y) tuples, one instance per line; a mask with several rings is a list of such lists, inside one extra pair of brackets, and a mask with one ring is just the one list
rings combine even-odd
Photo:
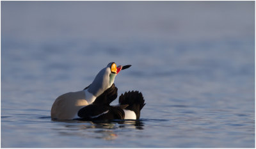
[(81, 136), (105, 140), (118, 138), (119, 132), (131, 129), (143, 130), (144, 126), (140, 120), (93, 120), (90, 122), (83, 120), (61, 120), (61, 122), (66, 122), (61, 124), (64, 127), (51, 128), (61, 136)]

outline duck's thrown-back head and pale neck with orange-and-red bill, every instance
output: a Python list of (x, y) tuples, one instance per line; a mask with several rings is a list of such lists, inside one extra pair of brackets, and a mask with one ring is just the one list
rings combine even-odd
[(95, 97), (101, 95), (105, 90), (107, 90), (115, 81), (116, 75), (126, 68), (131, 67), (131, 65), (119, 65), (116, 67), (115, 62), (111, 62), (107, 65), (107, 67), (100, 70), (100, 72), (96, 75), (92, 84), (88, 86), (88, 91), (92, 93)]

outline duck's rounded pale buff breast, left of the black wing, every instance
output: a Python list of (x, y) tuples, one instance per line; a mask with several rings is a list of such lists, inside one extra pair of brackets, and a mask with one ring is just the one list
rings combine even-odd
[(56, 98), (52, 104), (51, 118), (57, 120), (72, 120), (77, 112), (88, 102), (85, 100), (84, 91), (69, 92)]

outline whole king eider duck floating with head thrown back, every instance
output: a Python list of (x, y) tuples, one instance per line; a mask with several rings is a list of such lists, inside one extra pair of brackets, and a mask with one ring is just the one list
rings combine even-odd
[(116, 67), (114, 62), (100, 70), (92, 84), (84, 90), (69, 92), (56, 98), (51, 108), (52, 120), (112, 120), (140, 118), (145, 105), (141, 93), (129, 91), (119, 98), (118, 106), (109, 106), (117, 97), (114, 81), (120, 70), (131, 67)]

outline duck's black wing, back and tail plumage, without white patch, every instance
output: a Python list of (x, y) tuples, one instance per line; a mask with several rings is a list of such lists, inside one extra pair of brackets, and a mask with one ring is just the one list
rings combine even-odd
[(124, 120), (124, 109), (134, 111), (136, 119), (140, 118), (140, 111), (145, 106), (142, 93), (138, 91), (125, 92), (119, 97), (118, 106), (109, 104), (117, 97), (118, 89), (113, 84), (104, 91), (95, 101), (78, 111), (78, 116), (83, 120)]

